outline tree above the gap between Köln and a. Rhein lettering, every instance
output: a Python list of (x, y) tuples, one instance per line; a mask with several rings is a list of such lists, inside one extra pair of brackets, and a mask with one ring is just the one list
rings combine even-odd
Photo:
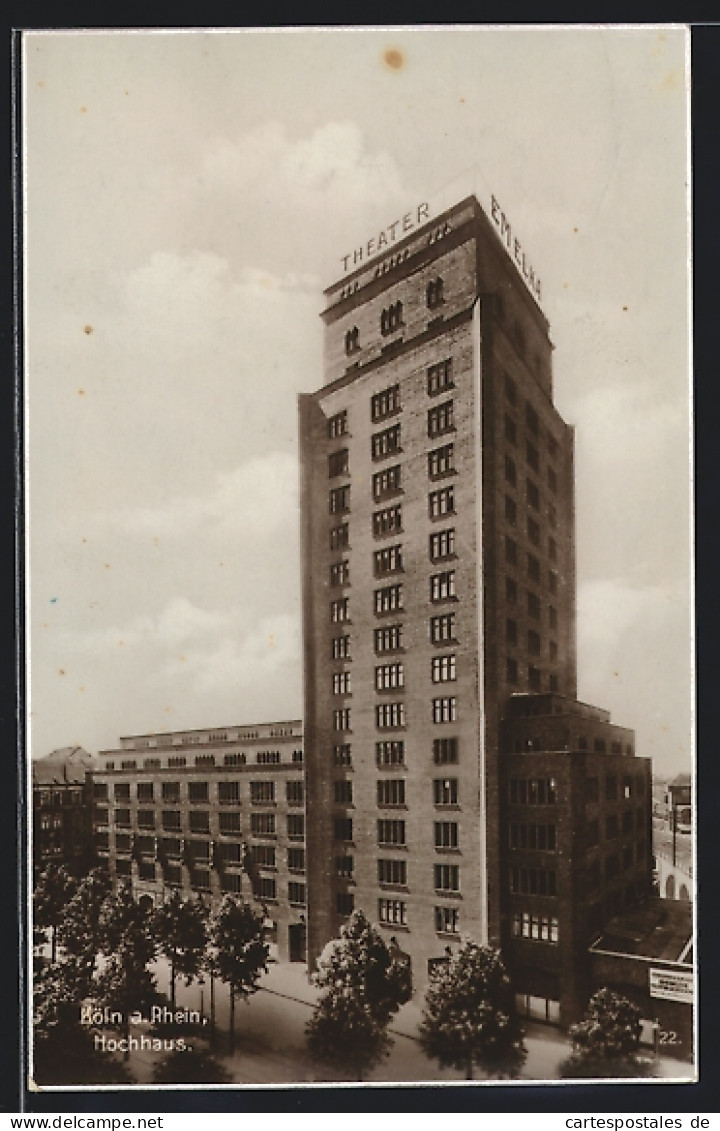
[(97, 999), (101, 1005), (122, 1015), (129, 1038), (131, 1015), (157, 1002), (155, 976), (148, 969), (156, 952), (155, 940), (149, 917), (132, 898), (129, 883), (105, 897), (99, 933), (106, 961), (96, 982)]

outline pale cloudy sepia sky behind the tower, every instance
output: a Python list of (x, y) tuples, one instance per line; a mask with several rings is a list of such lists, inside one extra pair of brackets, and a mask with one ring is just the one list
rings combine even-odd
[(322, 291), (476, 192), (575, 428), (579, 697), (687, 769), (685, 32), (36, 32), (23, 79), (32, 754), (301, 717)]

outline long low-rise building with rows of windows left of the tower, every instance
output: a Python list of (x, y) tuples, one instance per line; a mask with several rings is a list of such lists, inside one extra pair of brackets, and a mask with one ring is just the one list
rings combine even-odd
[(297, 720), (132, 735), (101, 751), (97, 860), (136, 897), (172, 890), (266, 909), (271, 952), (305, 959), (305, 785)]

